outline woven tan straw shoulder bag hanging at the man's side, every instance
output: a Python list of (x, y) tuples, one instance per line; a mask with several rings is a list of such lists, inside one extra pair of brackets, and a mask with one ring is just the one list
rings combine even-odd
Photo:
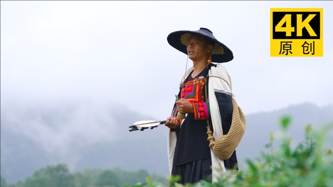
[[(246, 121), (243, 112), (238, 106), (236, 100), (232, 97), (233, 111), (231, 126), (228, 134), (220, 136), (216, 141), (212, 136), (210, 125), (207, 125), (207, 140), (209, 147), (222, 160), (229, 159), (236, 147), (240, 143), (241, 138), (245, 133)], [(223, 125), (223, 124), (222, 124)]]

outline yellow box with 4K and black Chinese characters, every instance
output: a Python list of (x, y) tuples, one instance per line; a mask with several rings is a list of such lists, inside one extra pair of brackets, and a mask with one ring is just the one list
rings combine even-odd
[(271, 8), (271, 56), (323, 56), (323, 8)]

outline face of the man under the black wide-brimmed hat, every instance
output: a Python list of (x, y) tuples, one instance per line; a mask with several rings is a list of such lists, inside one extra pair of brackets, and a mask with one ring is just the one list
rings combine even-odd
[(196, 34), (188, 39), (187, 54), (192, 61), (207, 60), (207, 51), (207, 44), (203, 36)]

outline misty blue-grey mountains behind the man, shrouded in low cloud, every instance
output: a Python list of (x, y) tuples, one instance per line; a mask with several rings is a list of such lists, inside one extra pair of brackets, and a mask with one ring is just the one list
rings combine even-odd
[[(279, 129), (278, 119), (286, 114), (293, 117), (289, 133), (299, 142), (307, 124), (317, 128), (333, 121), (333, 105), (304, 103), (246, 115), (246, 132), (236, 149), (240, 169), (246, 158), (265, 150), (269, 133)], [(166, 175), (168, 129), (128, 131), (133, 121), (142, 119), (153, 118), (114, 103), (1, 105), (1, 175), (12, 183), (56, 163), (66, 163), (72, 171), (119, 167)]]

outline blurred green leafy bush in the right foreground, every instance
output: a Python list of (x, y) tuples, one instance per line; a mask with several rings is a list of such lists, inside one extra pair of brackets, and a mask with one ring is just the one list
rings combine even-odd
[[(200, 181), (186, 184), (186, 187), (333, 187), (333, 154), (326, 149), (328, 132), (333, 129), (330, 123), (320, 130), (313, 131), (308, 125), (305, 129), (305, 141), (291, 146), (292, 138), (288, 136), (290, 117), (280, 120), (281, 130), (271, 134), (267, 147), (271, 153), (261, 153), (261, 158), (246, 162), (246, 169), (236, 176), (232, 170), (224, 173), (217, 183)], [(273, 149), (274, 136), (280, 140), (277, 149)], [(180, 177), (169, 179), (171, 186), (177, 184)], [(147, 178), (146, 183), (130, 185), (131, 187), (166, 186)], [(170, 186), (170, 185), (167, 185)]]

